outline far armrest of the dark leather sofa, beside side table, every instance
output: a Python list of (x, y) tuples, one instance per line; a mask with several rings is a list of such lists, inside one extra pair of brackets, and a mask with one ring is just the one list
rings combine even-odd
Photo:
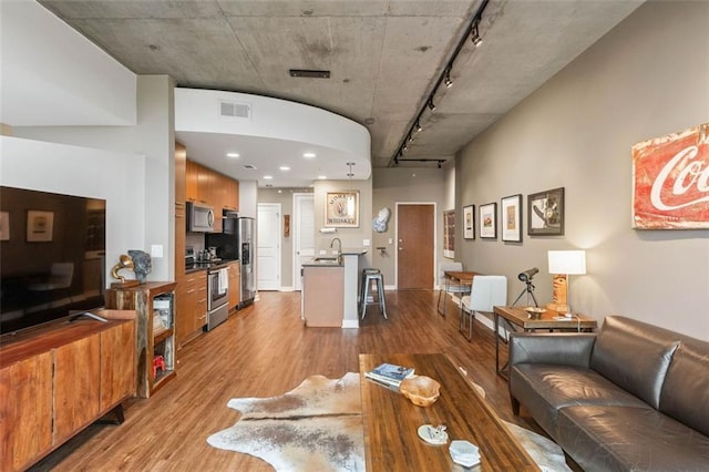
[(511, 332), (510, 367), (516, 363), (557, 363), (588, 368), (594, 332)]

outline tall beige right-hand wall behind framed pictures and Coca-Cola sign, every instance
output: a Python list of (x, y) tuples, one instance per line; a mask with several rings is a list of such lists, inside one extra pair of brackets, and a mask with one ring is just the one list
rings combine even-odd
[[(575, 310), (709, 339), (709, 230), (630, 228), (630, 147), (709, 121), (708, 18), (707, 2), (645, 3), (462, 151), (459, 208), (525, 195), (523, 243), (459, 237), (466, 266), (506, 275), (510, 301), (524, 288), (516, 275), (537, 266), (547, 302), (547, 250), (584, 248)], [(555, 187), (565, 236), (527, 236), (526, 195)]]

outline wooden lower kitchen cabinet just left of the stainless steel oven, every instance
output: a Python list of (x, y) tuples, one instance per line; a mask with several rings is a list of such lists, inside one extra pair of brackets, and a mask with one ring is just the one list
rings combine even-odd
[(185, 275), (177, 300), (177, 345), (182, 348), (201, 335), (207, 324), (207, 271)]

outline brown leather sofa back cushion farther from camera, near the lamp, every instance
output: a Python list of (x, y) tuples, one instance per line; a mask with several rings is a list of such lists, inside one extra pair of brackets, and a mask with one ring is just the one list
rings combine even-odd
[(676, 332), (630, 318), (606, 317), (590, 355), (590, 368), (658, 408), (678, 337)]

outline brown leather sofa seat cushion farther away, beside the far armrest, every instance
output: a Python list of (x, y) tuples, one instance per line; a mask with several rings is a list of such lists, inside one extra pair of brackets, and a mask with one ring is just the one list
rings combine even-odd
[(650, 408), (597, 372), (573, 366), (518, 363), (510, 369), (510, 393), (555, 437), (556, 415), (568, 406)]

